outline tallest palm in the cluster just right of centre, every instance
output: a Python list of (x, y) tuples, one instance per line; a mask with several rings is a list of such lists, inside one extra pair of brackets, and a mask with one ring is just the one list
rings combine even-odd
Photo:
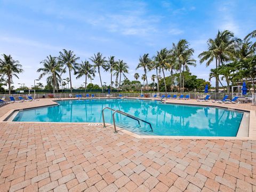
[[(180, 92), (181, 92), (181, 87), (182, 87), (182, 92), (184, 91), (184, 87), (182, 86), (182, 65), (183, 63), (186, 63), (186, 57), (187, 59), (190, 59), (191, 55), (193, 55), (194, 49), (189, 49), (189, 44), (186, 39), (181, 39), (177, 45), (172, 44), (172, 55), (175, 57), (178, 61), (178, 70), (180, 72)], [(183, 65), (185, 66), (185, 64)]]

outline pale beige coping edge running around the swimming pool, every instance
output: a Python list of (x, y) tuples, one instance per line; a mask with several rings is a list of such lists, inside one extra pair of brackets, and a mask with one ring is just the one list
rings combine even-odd
[[(117, 98), (85, 98), (85, 99), (117, 99)], [(124, 98), (125, 99), (125, 98)], [(152, 99), (152, 98), (127, 98), (127, 99), (140, 99), (140, 100), (157, 100), (159, 101), (159, 99)], [(62, 100), (77, 100), (76, 98), (64, 98)], [(89, 123), (89, 122), (13, 122), (13, 121), (8, 121), (10, 119), (10, 116), (15, 112), (15, 111), (20, 111), (20, 110), (28, 110), (28, 109), (34, 109), (34, 108), (42, 108), (42, 107), (49, 107), (49, 106), (54, 106), (54, 105), (59, 105), (57, 102), (58, 100), (55, 99), (51, 99), (50, 103), (48, 104), (43, 104), (41, 106), (36, 106), (36, 107), (23, 107), (23, 108), (14, 108), (9, 110), (5, 115), (3, 115), (2, 117), (0, 117), (0, 122), (1, 123), (35, 123), (35, 124), (49, 124), (49, 123), (53, 123), (53, 124), (102, 124), (102, 123)], [(31, 102), (39, 102), (39, 101), (31, 101)], [(172, 102), (166, 102), (166, 103), (172, 103)], [(15, 103), (13, 103), (15, 105)], [(192, 105), (192, 106), (204, 106), (204, 107), (217, 107), (217, 108), (222, 108), (222, 109), (227, 109), (227, 110), (236, 110), (236, 111), (240, 111), (243, 113), (249, 113), (249, 127), (248, 127), (248, 137), (240, 137), (239, 135), (237, 135), (236, 137), (207, 137), (207, 136), (161, 136), (161, 135), (138, 135), (136, 133), (121, 129), (119, 127), (118, 130), (122, 131), (126, 134), (129, 134), (135, 138), (141, 138), (141, 139), (207, 139), (207, 140), (211, 140), (211, 139), (224, 139), (224, 140), (256, 140), (256, 114), (254, 110), (249, 110), (249, 109), (239, 109), (239, 108), (235, 108), (235, 107), (230, 107), (230, 106), (215, 106), (215, 105), (196, 105), (195, 103), (173, 103), (173, 104), (180, 104), (180, 105)], [(108, 125), (108, 126), (113, 126), (113, 125)], [(113, 128), (114, 130), (114, 128)], [(240, 127), (239, 127), (240, 130)], [(239, 132), (238, 130), (238, 132)]]

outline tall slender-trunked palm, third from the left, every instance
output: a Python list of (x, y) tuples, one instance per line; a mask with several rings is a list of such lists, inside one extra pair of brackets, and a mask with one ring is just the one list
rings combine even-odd
[[(67, 51), (66, 49), (63, 49), (63, 53), (60, 52), (59, 61), (66, 65), (68, 68), (69, 73), (69, 80), (70, 80), (70, 92), (72, 93), (72, 80), (71, 80), (71, 71), (75, 68), (77, 65), (76, 61), (80, 59), (79, 57), (76, 57), (73, 51)], [(66, 69), (65, 67), (65, 69)]]

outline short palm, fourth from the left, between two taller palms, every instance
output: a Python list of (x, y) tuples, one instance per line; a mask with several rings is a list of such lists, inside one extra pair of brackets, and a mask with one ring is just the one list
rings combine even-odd
[(87, 77), (92, 78), (95, 77), (95, 69), (93, 68), (93, 65), (89, 63), (89, 61), (82, 61), (82, 64), (78, 64), (75, 66), (75, 75), (76, 78), (81, 78), (83, 75), (85, 75), (85, 92), (86, 92), (86, 85), (87, 85)]

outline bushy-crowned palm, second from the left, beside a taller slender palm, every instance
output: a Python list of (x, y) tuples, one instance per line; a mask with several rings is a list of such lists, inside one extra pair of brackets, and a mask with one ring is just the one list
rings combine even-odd
[(52, 57), (52, 55), (49, 55), (46, 57), (45, 60), (41, 61), (44, 65), (43, 68), (37, 69), (37, 72), (43, 72), (41, 75), (39, 75), (39, 79), (41, 79), (45, 75), (49, 75), (46, 79), (47, 83), (50, 83), (52, 85), (52, 92), (55, 93), (55, 88), (58, 86), (58, 79), (60, 79), (59, 73), (61, 73), (63, 70), (63, 64), (57, 61), (56, 57)]

